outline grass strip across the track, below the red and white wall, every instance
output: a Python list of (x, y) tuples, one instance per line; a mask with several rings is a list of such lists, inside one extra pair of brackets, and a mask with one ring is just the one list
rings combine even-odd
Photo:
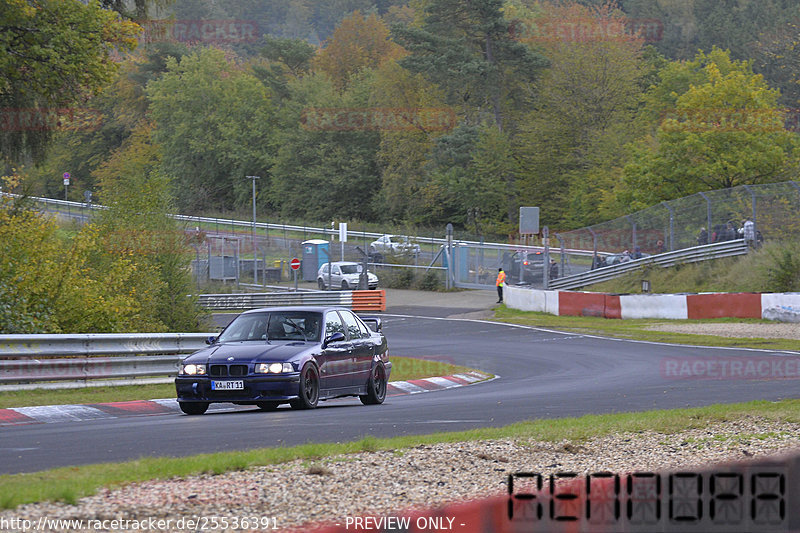
[[(667, 342), (673, 344), (695, 344), (698, 346), (728, 346), (732, 348), (762, 348), (768, 350), (800, 351), (800, 341), (794, 339), (761, 339), (750, 337), (719, 337), (716, 335), (694, 335), (669, 331), (652, 331), (649, 326), (675, 323), (676, 321), (654, 319), (617, 320), (591, 316), (556, 316), (532, 311), (517, 311), (505, 306), (495, 310), (495, 320), (510, 324), (535, 326), (588, 335), (603, 335), (621, 339)], [(681, 320), (681, 324), (696, 323), (772, 323), (768, 320), (743, 318), (718, 318), (713, 320)]]

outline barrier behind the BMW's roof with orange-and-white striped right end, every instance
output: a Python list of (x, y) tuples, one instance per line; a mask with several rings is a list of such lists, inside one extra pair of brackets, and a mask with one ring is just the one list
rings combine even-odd
[(258, 309), (273, 306), (339, 305), (353, 311), (385, 311), (386, 291), (263, 292), (201, 294), (200, 305), (216, 311)]

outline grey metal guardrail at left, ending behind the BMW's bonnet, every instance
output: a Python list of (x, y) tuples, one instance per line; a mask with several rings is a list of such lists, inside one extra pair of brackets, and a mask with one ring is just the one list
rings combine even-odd
[(210, 335), (2, 335), (0, 391), (170, 383), (181, 355), (205, 347)]

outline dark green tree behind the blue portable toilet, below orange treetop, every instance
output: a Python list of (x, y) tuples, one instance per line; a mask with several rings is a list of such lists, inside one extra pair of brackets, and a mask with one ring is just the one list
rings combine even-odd
[[(270, 199), (284, 216), (313, 220), (372, 220), (380, 176), (378, 131), (352, 123), (368, 108), (370, 77), (338, 91), (322, 74), (292, 83), (294, 99), (282, 113)], [(344, 121), (344, 122), (341, 122)], [(340, 124), (344, 124), (343, 126)]]

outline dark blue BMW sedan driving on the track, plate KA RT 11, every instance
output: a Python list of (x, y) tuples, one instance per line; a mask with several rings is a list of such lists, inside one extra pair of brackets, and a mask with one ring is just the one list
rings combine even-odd
[(175, 378), (186, 414), (203, 414), (214, 402), (313, 409), (340, 396), (358, 396), (364, 404), (386, 397), (392, 363), (380, 319), (349, 309), (255, 309), (207, 342), (183, 360)]

